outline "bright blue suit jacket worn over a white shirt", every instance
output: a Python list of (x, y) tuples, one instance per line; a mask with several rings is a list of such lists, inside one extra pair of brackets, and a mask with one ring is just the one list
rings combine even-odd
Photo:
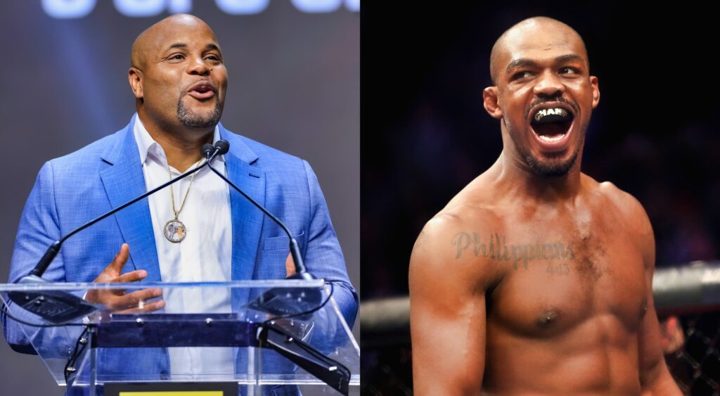
[[(132, 132), (134, 120), (132, 117), (127, 127), (113, 135), (42, 166), (20, 220), (9, 282), (27, 275), (54, 240), (146, 191)], [(358, 297), (349, 282), (325, 198), (310, 165), (218, 126), (220, 138), (230, 143), (230, 152), (225, 154), (228, 178), (287, 224), (300, 244), (308, 271), (333, 282), (338, 307), (352, 326)], [(233, 189), (230, 212), (232, 279), (283, 279), (289, 241), (282, 229)], [(130, 258), (123, 272), (144, 269), (148, 282), (161, 282), (152, 235), (150, 209), (147, 199), (143, 199), (68, 239), (43, 278), (50, 282), (92, 282), (112, 261), (120, 245), (127, 243)], [(233, 305), (245, 302), (236, 300), (233, 296)], [(5, 315), (2, 321), (10, 345), (27, 350), (29, 340), (19, 325)], [(50, 347), (53, 338), (60, 335), (52, 330), (37, 330), (31, 337), (35, 338), (35, 346)], [(120, 359), (122, 363), (116, 368), (107, 369), (132, 375), (136, 370), (148, 372), (168, 366), (166, 354), (151, 349), (146, 353), (132, 362)]]

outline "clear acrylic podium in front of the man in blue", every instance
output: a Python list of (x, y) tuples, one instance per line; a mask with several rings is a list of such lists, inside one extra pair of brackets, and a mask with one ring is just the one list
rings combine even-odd
[[(94, 312), (55, 320), (60, 323), (54, 327), (36, 327), (52, 323), (22, 307), (46, 307), (57, 318), (91, 291), (129, 294), (148, 288), (161, 289), (162, 296), (115, 312), (95, 305)], [(34, 350), (58, 385), (90, 395), (117, 384), (203, 382), (235, 384), (243, 395), (269, 394), (279, 385), (300, 385), (304, 395), (357, 393), (360, 349), (332, 293), (333, 285), (322, 279), (0, 284), (4, 310), (17, 319), (6, 319), (8, 341), (16, 349)], [(166, 302), (163, 309), (138, 312), (159, 299)], [(197, 312), (187, 308), (192, 303), (175, 304), (178, 299), (230, 304)], [(168, 351), (189, 361), (194, 351), (206, 357), (179, 367), (170, 364)], [(208, 351), (231, 363), (209, 361)]]

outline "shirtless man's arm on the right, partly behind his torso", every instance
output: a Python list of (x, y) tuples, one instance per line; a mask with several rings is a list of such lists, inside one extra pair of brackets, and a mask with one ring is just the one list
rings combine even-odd
[(652, 273), (655, 268), (655, 238), (652, 226), (642, 205), (631, 198), (634, 206), (633, 219), (639, 225), (638, 238), (642, 244), (647, 284), (647, 312), (638, 329), (639, 376), (642, 395), (683, 395), (667, 370), (660, 345), (660, 323), (657, 321), (654, 300), (652, 298)]

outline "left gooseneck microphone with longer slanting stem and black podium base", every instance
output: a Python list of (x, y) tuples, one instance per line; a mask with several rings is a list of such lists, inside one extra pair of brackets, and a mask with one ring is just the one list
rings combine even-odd
[[(206, 152), (206, 146), (210, 146), (210, 152)], [(167, 183), (162, 184), (161, 186), (158, 186), (154, 189), (151, 189), (148, 192), (145, 192), (145, 194), (140, 195), (140, 197), (137, 197), (135, 199), (131, 199), (128, 202), (125, 202), (125, 204), (120, 205), (119, 207), (116, 207), (109, 212), (105, 213), (104, 215), (100, 215), (99, 217), (94, 218), (93, 220), (90, 220), (89, 222), (86, 222), (84, 225), (81, 225), (80, 227), (76, 228), (75, 230), (72, 230), (67, 235), (63, 236), (62, 238), (55, 240), (47, 251), (45, 251), (45, 254), (40, 258), (40, 261), (37, 262), (37, 265), (35, 266), (32, 271), (30, 271), (30, 274), (27, 274), (26, 276), (23, 276), (21, 279), (17, 281), (17, 283), (20, 284), (39, 284), (39, 283), (48, 283), (45, 279), (42, 279), (42, 274), (45, 274), (45, 271), (48, 269), (48, 266), (50, 266), (50, 263), (53, 262), (53, 259), (55, 256), (58, 256), (58, 253), (60, 252), (60, 248), (63, 246), (63, 243), (68, 240), (68, 238), (71, 238), (76, 233), (79, 233), (80, 231), (90, 227), (91, 225), (94, 225), (96, 222), (99, 222), (100, 220), (103, 220), (106, 217), (109, 217), (111, 215), (114, 215), (117, 212), (120, 212), (120, 210), (125, 209), (126, 207), (130, 206), (131, 204), (134, 204), (135, 202), (140, 201), (140, 199), (144, 199), (152, 194), (155, 194), (156, 192), (160, 191), (161, 189), (164, 189), (165, 187), (174, 184), (176, 181), (179, 181), (181, 179), (186, 178), (187, 176), (190, 176), (194, 174), (195, 172), (202, 169), (204, 166), (209, 166), (210, 162), (212, 162), (215, 157), (217, 157), (220, 153), (220, 148), (215, 148), (212, 145), (203, 145), (202, 146), (202, 154), (205, 158), (205, 162), (202, 163), (200, 166), (197, 166), (197, 168), (192, 168), (189, 171), (186, 171), (184, 174), (181, 174), (180, 176), (177, 176), (175, 179), (172, 179), (168, 181)], [(60, 291), (52, 291), (52, 292), (8, 292), (8, 296), (12, 302), (19, 305), (20, 307), (23, 307), (25, 310), (28, 310), (35, 315), (39, 315), (41, 318), (47, 320), (51, 323), (66, 323), (71, 320), (75, 320), (77, 318), (83, 318), (87, 315), (90, 315), (92, 312), (96, 312), (97, 310), (102, 310), (104, 306), (92, 304), (90, 302), (87, 302), (80, 297), (77, 297), (75, 294), (71, 294), (68, 292), (60, 292)]]

